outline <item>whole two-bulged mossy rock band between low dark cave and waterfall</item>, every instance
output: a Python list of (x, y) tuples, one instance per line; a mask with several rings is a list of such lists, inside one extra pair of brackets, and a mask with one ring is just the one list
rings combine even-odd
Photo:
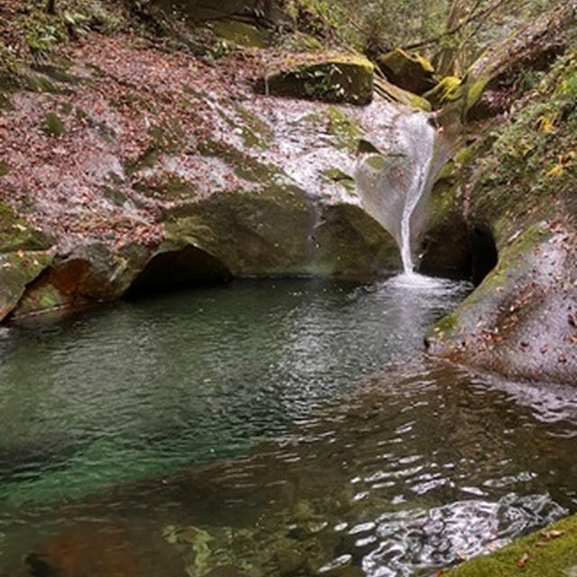
[(396, 243), (360, 206), (317, 206), (295, 186), (217, 193), (167, 216), (172, 243), (208, 252), (234, 277), (366, 279), (399, 265)]

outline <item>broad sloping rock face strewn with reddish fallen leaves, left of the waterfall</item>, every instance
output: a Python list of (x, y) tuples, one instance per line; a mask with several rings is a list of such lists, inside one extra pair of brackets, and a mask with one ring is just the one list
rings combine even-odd
[[(299, 99), (255, 95), (263, 58), (286, 64), (267, 51), (215, 67), (130, 42), (69, 47), (67, 69), (23, 72), (37, 90), (2, 92), (2, 317), (153, 289), (158, 270), (166, 287), (398, 269), (353, 172), (359, 139), (386, 140), (380, 123), (408, 108), (310, 102), (305, 85)], [(371, 100), (368, 61), (294, 60), (334, 90), (325, 99)], [(49, 115), (61, 131), (45, 130)]]

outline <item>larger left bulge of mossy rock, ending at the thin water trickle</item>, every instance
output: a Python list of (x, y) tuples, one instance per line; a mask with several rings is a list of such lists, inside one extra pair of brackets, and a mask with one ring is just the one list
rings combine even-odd
[(167, 216), (169, 239), (214, 255), (235, 277), (306, 272), (315, 209), (300, 188), (216, 193)]

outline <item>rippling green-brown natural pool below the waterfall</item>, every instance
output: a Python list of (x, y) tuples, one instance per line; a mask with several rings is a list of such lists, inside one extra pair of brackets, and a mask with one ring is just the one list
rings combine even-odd
[(246, 280), (0, 337), (0, 574), (400, 577), (577, 510), (572, 389), (421, 356), (467, 287)]

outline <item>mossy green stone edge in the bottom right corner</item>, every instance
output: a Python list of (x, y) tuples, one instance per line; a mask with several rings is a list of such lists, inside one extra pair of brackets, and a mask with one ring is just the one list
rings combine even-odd
[(444, 577), (577, 577), (577, 514), (439, 574)]

